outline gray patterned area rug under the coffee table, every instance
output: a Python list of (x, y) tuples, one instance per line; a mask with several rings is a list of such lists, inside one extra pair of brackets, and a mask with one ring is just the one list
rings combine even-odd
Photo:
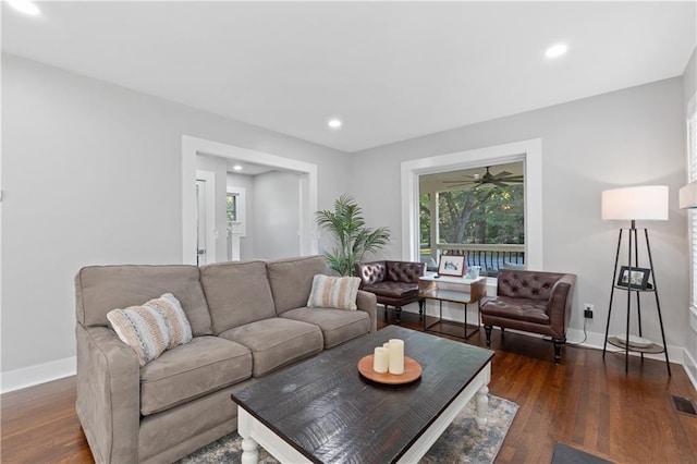
[[(493, 463), (517, 411), (517, 404), (490, 394), (488, 424), (480, 430), (475, 420), (475, 406), (469, 402), (420, 463)], [(242, 438), (233, 432), (195, 451), (179, 464), (239, 463), (241, 455)], [(259, 447), (259, 463), (277, 464), (278, 461)]]

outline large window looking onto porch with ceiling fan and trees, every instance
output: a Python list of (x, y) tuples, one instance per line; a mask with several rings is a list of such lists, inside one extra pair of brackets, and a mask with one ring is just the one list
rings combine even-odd
[(465, 255), (467, 266), (496, 276), (525, 264), (524, 162), (440, 172), (419, 178), (420, 258)]

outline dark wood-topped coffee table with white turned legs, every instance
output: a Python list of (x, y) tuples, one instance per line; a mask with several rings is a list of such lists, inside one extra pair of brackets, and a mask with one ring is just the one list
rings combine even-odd
[[(384, 386), (358, 374), (358, 361), (403, 339), (421, 378)], [(486, 425), (493, 352), (390, 326), (315, 356), (232, 394), (242, 462), (257, 443), (283, 463), (417, 462), (476, 395)]]

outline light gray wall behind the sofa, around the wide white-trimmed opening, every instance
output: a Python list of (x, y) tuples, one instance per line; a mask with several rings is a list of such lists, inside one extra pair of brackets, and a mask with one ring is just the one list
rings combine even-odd
[(181, 262), (183, 134), (317, 164), (320, 208), (348, 187), (340, 151), (2, 54), (3, 373), (75, 355), (82, 266)]

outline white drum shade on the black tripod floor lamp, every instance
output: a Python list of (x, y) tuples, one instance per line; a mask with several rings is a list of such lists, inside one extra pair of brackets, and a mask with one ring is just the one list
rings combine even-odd
[(668, 220), (668, 186), (643, 185), (602, 192), (603, 220)]

